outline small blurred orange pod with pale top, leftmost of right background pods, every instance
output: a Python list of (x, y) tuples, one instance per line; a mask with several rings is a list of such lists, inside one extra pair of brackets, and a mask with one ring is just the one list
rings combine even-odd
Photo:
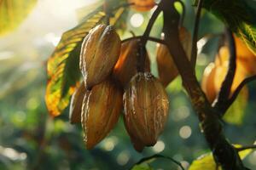
[(216, 66), (214, 63), (207, 65), (201, 82), (201, 88), (206, 93), (207, 99), (210, 101), (210, 103), (212, 103), (217, 96), (214, 87), (215, 71)]

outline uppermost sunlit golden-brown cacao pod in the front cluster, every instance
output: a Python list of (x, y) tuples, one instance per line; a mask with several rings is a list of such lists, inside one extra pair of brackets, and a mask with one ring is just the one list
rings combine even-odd
[(112, 26), (99, 25), (84, 38), (80, 54), (80, 70), (85, 87), (102, 82), (119, 59), (121, 41)]

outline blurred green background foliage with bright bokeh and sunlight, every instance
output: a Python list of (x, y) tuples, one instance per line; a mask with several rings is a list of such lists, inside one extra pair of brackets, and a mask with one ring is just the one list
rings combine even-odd
[[(186, 6), (184, 26), (191, 32), (195, 8), (190, 0), (183, 2)], [(128, 169), (144, 156), (156, 153), (171, 156), (188, 168), (193, 160), (209, 150), (179, 77), (166, 88), (171, 101), (166, 129), (157, 144), (143, 153), (133, 149), (122, 117), (94, 150), (85, 150), (81, 126), (68, 122), (68, 108), (55, 119), (49, 116), (44, 104), (46, 60), (61, 33), (78, 24), (82, 7), (90, 3), (95, 2), (39, 0), (15, 31), (0, 37), (0, 169)], [(126, 31), (119, 32), (122, 38), (131, 37), (129, 31), (141, 35), (151, 14), (152, 11), (137, 13), (133, 9), (126, 12), (121, 23)], [(162, 16), (156, 21), (152, 36), (160, 37), (161, 22)], [(218, 35), (223, 31), (224, 25), (203, 10), (196, 67), (199, 80), (206, 65), (214, 60)], [(207, 39), (205, 35), (217, 36)], [(157, 76), (155, 43), (148, 42), (147, 48), (152, 72)], [(241, 105), (236, 105), (223, 122), (225, 134), (234, 144), (253, 144), (256, 139), (256, 121), (252, 118), (256, 109), (255, 85), (255, 82), (249, 84), (248, 99), (239, 100)], [(256, 152), (244, 162), (255, 169)], [(165, 159), (154, 161), (151, 166), (178, 169)]]

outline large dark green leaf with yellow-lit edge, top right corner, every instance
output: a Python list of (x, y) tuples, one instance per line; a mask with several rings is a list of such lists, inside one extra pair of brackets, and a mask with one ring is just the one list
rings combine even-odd
[(256, 54), (256, 10), (251, 5), (244, 0), (205, 0), (203, 6), (223, 20)]

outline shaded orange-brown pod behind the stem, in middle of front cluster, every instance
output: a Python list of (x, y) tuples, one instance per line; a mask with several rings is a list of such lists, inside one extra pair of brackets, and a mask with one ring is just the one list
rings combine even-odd
[[(113, 67), (113, 77), (122, 84), (123, 88), (130, 82), (131, 77), (137, 73), (139, 43), (140, 41), (137, 39), (122, 43), (119, 60)], [(145, 56), (145, 71), (150, 71), (150, 60), (147, 53)]]

